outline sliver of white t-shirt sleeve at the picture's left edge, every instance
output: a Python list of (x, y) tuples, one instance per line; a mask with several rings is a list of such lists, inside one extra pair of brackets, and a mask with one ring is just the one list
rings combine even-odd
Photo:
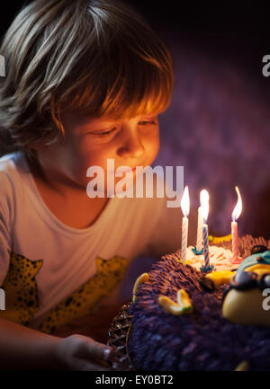
[(14, 218), (13, 184), (5, 172), (0, 172), (0, 287), (8, 271), (12, 252)]

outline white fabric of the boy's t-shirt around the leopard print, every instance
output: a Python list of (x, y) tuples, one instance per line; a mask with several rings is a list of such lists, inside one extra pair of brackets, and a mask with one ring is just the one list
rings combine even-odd
[[(157, 181), (164, 184), (163, 179)], [(0, 286), (4, 279), (7, 282), (12, 253), (25, 257), (27, 267), (28, 261), (42, 260), (31, 278), (38, 295), (37, 309), (28, 323), (32, 328), (38, 328), (49, 310), (94, 277), (97, 258), (120, 257), (130, 265), (139, 255), (157, 258), (180, 247), (181, 208), (167, 208), (166, 198), (114, 197), (93, 225), (78, 229), (65, 225), (50, 211), (23, 153), (0, 158), (0, 182)], [(26, 281), (20, 287), (25, 285)]]

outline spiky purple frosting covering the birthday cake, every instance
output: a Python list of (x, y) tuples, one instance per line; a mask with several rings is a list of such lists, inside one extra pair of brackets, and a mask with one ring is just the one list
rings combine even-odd
[[(130, 305), (129, 354), (138, 370), (234, 370), (244, 360), (250, 370), (270, 370), (270, 328), (230, 323), (221, 315), (224, 287), (202, 285), (203, 274), (172, 254), (162, 257)], [(158, 305), (158, 296), (176, 301), (183, 288), (193, 314), (175, 316)]]

